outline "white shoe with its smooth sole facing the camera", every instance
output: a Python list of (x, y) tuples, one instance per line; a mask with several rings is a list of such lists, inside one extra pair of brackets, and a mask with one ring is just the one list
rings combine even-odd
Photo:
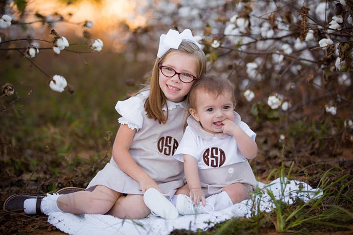
[(144, 202), (151, 213), (165, 219), (176, 219), (179, 216), (176, 207), (155, 188), (149, 188), (144, 193)]

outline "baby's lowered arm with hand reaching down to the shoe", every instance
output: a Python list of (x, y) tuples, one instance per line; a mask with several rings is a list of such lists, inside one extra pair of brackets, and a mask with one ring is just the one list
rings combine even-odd
[(184, 172), (186, 182), (190, 189), (190, 198), (195, 205), (199, 205), (200, 200), (206, 205), (206, 200), (201, 189), (197, 160), (190, 155), (184, 154)]

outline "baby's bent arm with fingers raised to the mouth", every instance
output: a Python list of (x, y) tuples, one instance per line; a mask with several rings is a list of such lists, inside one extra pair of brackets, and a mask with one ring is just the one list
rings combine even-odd
[(238, 143), (238, 148), (244, 157), (252, 159), (256, 157), (257, 145), (237, 124), (231, 120), (224, 120), (223, 133), (234, 136)]

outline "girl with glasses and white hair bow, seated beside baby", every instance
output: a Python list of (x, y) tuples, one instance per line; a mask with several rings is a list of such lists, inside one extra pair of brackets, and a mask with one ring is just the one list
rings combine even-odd
[[(9, 197), (5, 210), (26, 213), (111, 214), (138, 219), (151, 211), (167, 219), (178, 216), (168, 200), (185, 192), (182, 164), (173, 154), (183, 134), (184, 99), (206, 71), (206, 58), (190, 31), (170, 29), (162, 34), (150, 86), (118, 101), (112, 158), (86, 190), (66, 195), (47, 194), (42, 200), (27, 194)], [(187, 189), (186, 189), (187, 190)], [(163, 196), (164, 195), (164, 196)], [(167, 199), (167, 198), (168, 199)]]

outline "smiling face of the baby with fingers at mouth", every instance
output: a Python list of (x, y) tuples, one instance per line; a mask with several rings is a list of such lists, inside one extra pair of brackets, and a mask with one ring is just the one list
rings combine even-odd
[(222, 121), (233, 120), (233, 107), (230, 92), (224, 92), (216, 97), (215, 94), (198, 91), (196, 107), (190, 109), (190, 114), (200, 121), (203, 130), (216, 134), (223, 132)]

